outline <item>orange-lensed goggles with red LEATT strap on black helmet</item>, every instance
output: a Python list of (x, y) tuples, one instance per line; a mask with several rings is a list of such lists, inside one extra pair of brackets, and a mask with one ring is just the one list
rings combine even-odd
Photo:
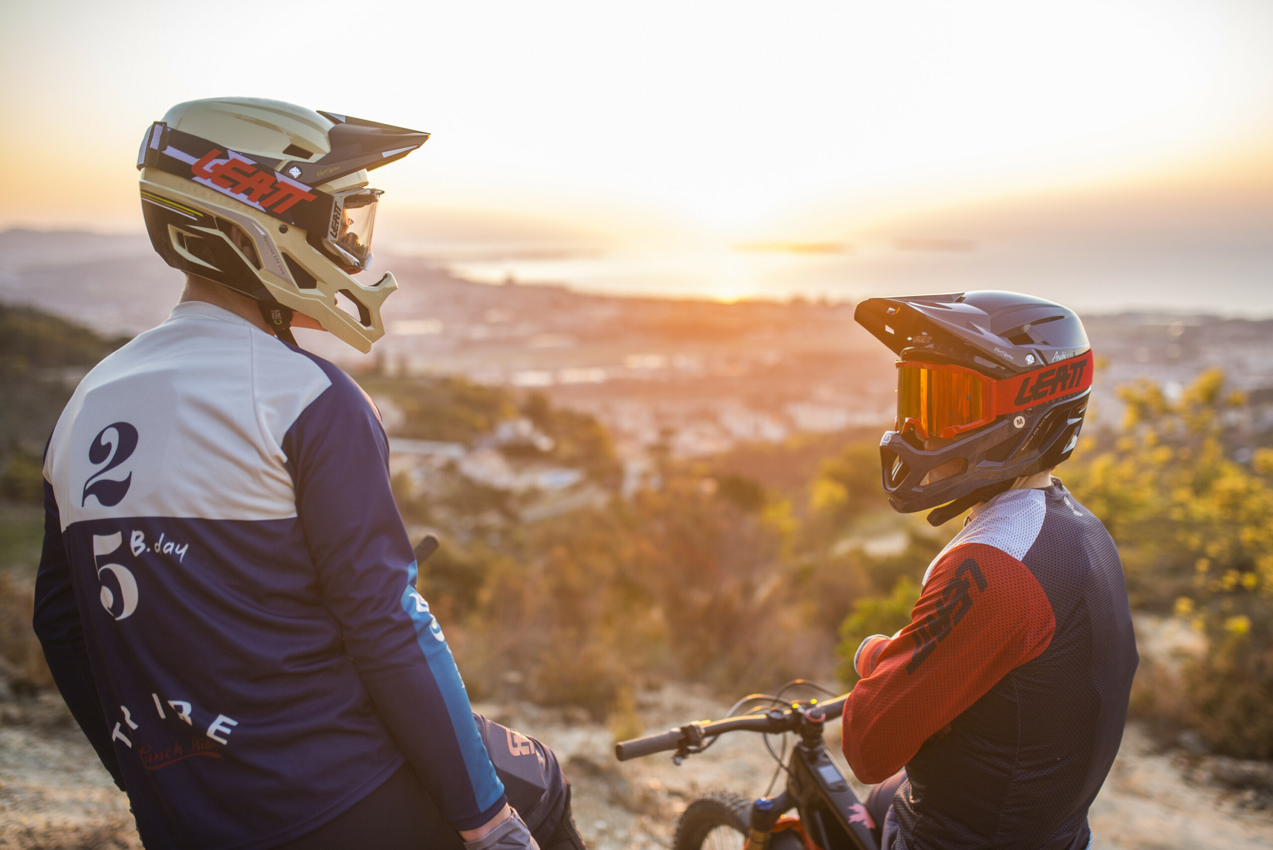
[(897, 363), (897, 430), (951, 439), (1053, 398), (1092, 386), (1092, 352), (995, 380), (966, 366)]

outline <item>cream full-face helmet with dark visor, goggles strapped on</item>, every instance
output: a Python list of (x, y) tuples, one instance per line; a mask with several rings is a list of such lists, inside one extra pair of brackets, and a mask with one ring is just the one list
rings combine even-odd
[[(367, 172), (429, 134), (261, 98), (178, 103), (141, 140), (141, 209), (169, 266), (256, 299), (279, 338), (292, 313), (364, 354), (397, 289), (372, 262), (381, 190)], [(340, 302), (348, 299), (349, 309)]]

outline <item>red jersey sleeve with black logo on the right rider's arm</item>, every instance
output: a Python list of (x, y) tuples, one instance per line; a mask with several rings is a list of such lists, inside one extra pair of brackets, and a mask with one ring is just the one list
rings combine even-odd
[(1055, 631), (1034, 574), (994, 546), (942, 556), (895, 638), (859, 648), (863, 678), (844, 705), (844, 756), (863, 783), (894, 775), (933, 734), (1009, 671), (1036, 658)]

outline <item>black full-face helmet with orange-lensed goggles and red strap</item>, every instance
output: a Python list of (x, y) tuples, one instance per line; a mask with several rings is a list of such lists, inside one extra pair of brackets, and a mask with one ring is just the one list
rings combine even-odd
[(897, 420), (880, 440), (895, 510), (941, 505), (939, 526), (1074, 450), (1094, 364), (1073, 310), (983, 290), (871, 298), (853, 317), (900, 358)]

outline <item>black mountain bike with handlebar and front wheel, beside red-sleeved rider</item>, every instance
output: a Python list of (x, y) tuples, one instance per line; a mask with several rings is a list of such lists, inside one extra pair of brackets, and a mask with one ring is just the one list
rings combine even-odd
[[(764, 735), (796, 733), (797, 743), (787, 763), (783, 763), (785, 747), (783, 755), (778, 755), (769, 746), (768, 737), (764, 739), (779, 771), (787, 772), (787, 788), (782, 794), (749, 800), (731, 791), (717, 791), (694, 800), (677, 823), (673, 850), (737, 850), (740, 846), (747, 850), (803, 850), (810, 847), (810, 842), (821, 850), (878, 850), (872, 833), (875, 825), (866, 807), (831, 761), (822, 739), (826, 721), (844, 713), (847, 697), (830, 702), (816, 699), (783, 702), (782, 692), (796, 685), (810, 683), (797, 679), (783, 686), (778, 696), (756, 693), (743, 697), (723, 720), (687, 723), (615, 744), (619, 761), (675, 751), (672, 761), (680, 765), (686, 757), (708, 749), (728, 732), (759, 732)], [(770, 701), (774, 707), (757, 714), (733, 715), (740, 706), (756, 701)], [(798, 819), (782, 817), (791, 809), (796, 809)]]

